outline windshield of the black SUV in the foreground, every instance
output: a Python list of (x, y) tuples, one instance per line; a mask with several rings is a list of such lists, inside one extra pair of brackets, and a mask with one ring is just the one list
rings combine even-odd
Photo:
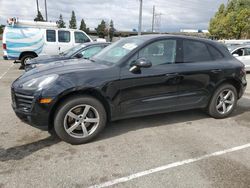
[(144, 38), (135, 37), (121, 39), (104, 48), (100, 53), (91, 59), (101, 63), (116, 64), (144, 41)]

